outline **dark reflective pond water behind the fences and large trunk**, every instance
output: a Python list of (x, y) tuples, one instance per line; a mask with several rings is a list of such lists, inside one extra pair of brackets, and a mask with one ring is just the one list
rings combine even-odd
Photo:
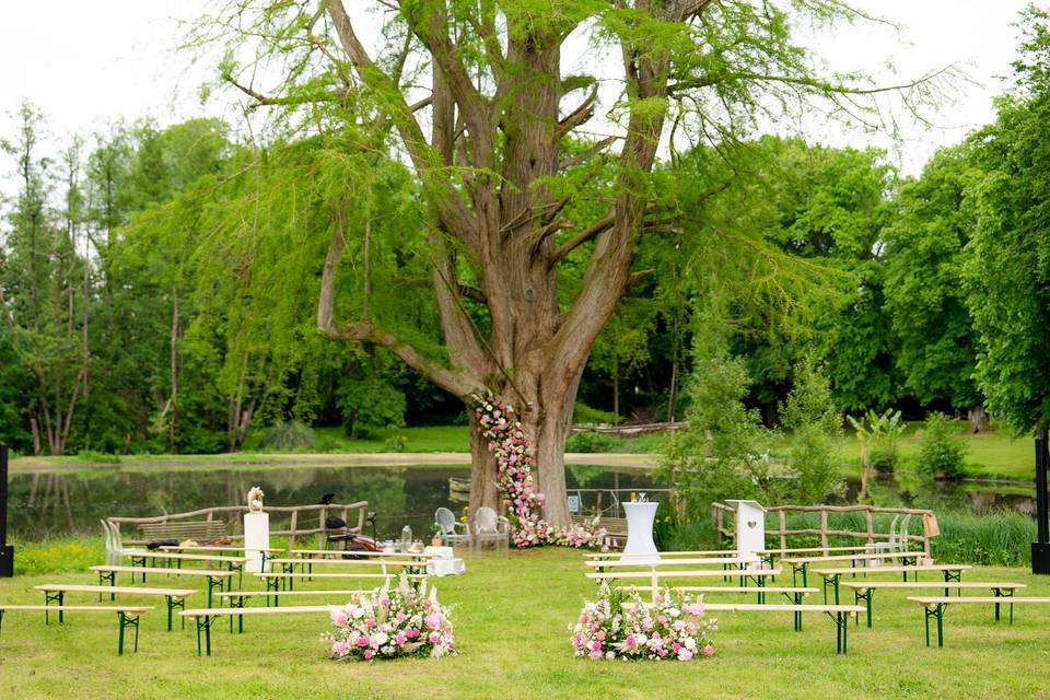
[[(440, 506), (455, 513), (466, 497), (450, 488), (450, 478), (466, 479), (469, 467), (115, 467), (15, 474), (10, 477), (9, 527), (13, 538), (37, 540), (68, 534), (100, 534), (98, 521), (112, 515), (150, 516), (243, 502), (253, 486), (266, 492), (268, 505), (317, 503), (332, 492), (337, 503), (368, 501), (377, 513), (376, 534), (392, 538), (406, 524), (418, 538), (429, 535)], [(565, 477), (572, 489), (661, 488), (646, 469), (570, 465)], [(849, 481), (844, 500), (855, 502), (860, 483)], [(898, 472), (876, 480), (870, 491), (875, 505), (967, 510), (984, 513), (1013, 510), (1035, 513), (1030, 485), (987, 482), (930, 483), (917, 475)], [(662, 500), (658, 494), (656, 500)], [(626, 498), (627, 494), (621, 494)], [(603, 505), (609, 504), (604, 494)], [(583, 505), (594, 505), (594, 493)], [(621, 515), (621, 514), (617, 514)], [(283, 527), (283, 526), (282, 526)], [(366, 526), (366, 533), (369, 528)]]

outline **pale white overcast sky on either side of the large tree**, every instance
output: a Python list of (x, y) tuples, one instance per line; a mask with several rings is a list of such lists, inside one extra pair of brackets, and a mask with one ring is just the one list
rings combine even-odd
[[(836, 144), (875, 143), (894, 151), (909, 174), (921, 170), (936, 148), (958, 142), (993, 117), (991, 100), (1010, 73), (1017, 30), (1011, 26), (1024, 0), (863, 0), (858, 3), (899, 23), (902, 32), (845, 27), (819, 37), (817, 48), (839, 70), (865, 69), (891, 59), (903, 77), (962, 63), (973, 84), (960, 88), (958, 103), (936, 115), (938, 128), (908, 126), (902, 141), (860, 132), (814, 135)], [(177, 50), (179, 21), (191, 20), (206, 0), (5, 0), (0, 4), (0, 116), (23, 98), (48, 117), (55, 137), (90, 136), (118, 118), (152, 116), (161, 124), (218, 114), (221, 102), (200, 105), (198, 88), (212, 66), (194, 65)], [(225, 115), (230, 116), (230, 115)], [(0, 183), (12, 164), (0, 164)]]

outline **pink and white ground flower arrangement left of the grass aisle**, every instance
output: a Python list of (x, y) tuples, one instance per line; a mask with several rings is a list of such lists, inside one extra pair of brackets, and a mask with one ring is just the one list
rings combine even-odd
[(412, 588), (402, 574), (376, 594), (358, 595), (343, 606), (329, 606), (336, 632), (328, 657), (336, 661), (374, 661), (400, 656), (438, 658), (456, 654), (448, 608), (438, 603), (438, 590), (427, 595), (427, 583)]

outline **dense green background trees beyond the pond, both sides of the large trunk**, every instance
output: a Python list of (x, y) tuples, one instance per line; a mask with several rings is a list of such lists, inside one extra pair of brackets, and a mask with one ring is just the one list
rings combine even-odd
[[(1045, 423), (1029, 380), (1050, 368), (1047, 18), (1026, 20), (996, 121), (917, 177), (878, 150), (771, 136), (665, 159), (639, 253), (652, 273), (598, 337), (576, 422), (680, 419), (695, 366), (711, 362), (697, 348), (718, 338), (766, 425), (800, 420), (798, 399), (781, 416), (796, 368), (819, 368), (841, 411), (936, 409), (982, 430), (991, 408), (1016, 430)], [(338, 202), (360, 264), (336, 306), (385, 307), (441, 353), (439, 310), (411, 283), (430, 255), (406, 236), (425, 218), (421, 185), (370, 161), (360, 135), (260, 145), (197, 119), (54, 139), (26, 104), (2, 137), (14, 187), (0, 224), (0, 441), (218, 452), (282, 421), (360, 435), (463, 420), (387, 350), (316, 334)]]

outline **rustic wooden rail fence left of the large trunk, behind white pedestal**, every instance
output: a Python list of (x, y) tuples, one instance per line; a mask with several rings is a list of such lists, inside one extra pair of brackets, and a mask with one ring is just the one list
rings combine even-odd
[[(296, 537), (317, 536), (317, 548), (325, 547), (325, 520), (329, 515), (339, 514), (347, 522), (347, 532), (360, 534), (364, 528), (364, 515), (369, 508), (368, 501), (358, 501), (357, 503), (330, 503), (328, 505), (272, 505), (266, 506), (266, 512), (270, 514), (271, 520), (283, 520), (287, 516), (287, 529), (270, 529), (270, 535), (288, 537), (289, 549), (295, 546)], [(351, 524), (350, 511), (357, 511), (357, 524)], [(164, 515), (154, 515), (151, 517), (122, 517), (114, 516), (106, 520), (117, 526), (120, 530), (121, 525), (142, 525), (144, 523), (174, 523), (189, 520), (225, 520), (231, 530), (228, 535), (230, 539), (244, 539), (243, 523), (241, 517), (248, 512), (247, 505), (220, 505), (215, 508), (205, 508), (188, 513), (165, 513)], [(314, 520), (313, 515), (317, 517)], [(275, 517), (277, 516), (277, 517)], [(275, 524), (271, 524), (271, 528)]]

